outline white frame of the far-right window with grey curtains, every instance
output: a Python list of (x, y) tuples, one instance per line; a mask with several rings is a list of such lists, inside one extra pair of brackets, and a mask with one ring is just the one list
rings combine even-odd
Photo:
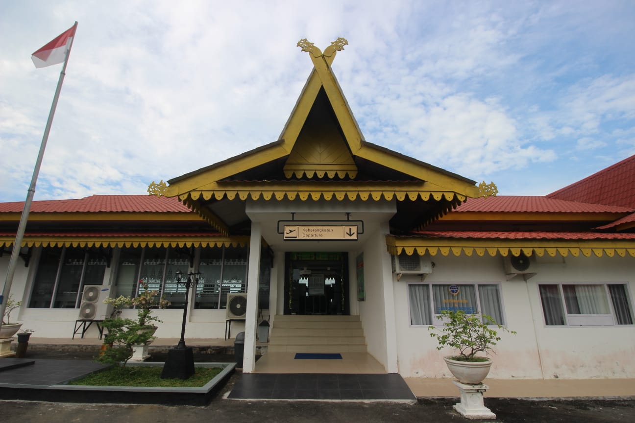
[[(565, 318), (564, 325), (547, 325), (547, 318), (545, 315), (545, 309), (542, 303), (542, 295), (540, 293), (541, 285), (556, 285), (558, 287), (558, 294), (560, 296), (560, 304), (563, 310), (563, 315)], [(608, 303), (608, 309), (610, 314), (606, 313), (597, 313), (597, 314), (588, 314), (588, 313), (580, 313), (580, 314), (571, 314), (568, 312), (565, 300), (565, 292), (563, 289), (563, 285), (601, 285), (606, 293), (606, 302)], [(617, 320), (617, 313), (615, 312), (615, 307), (613, 306), (612, 296), (608, 285), (622, 285), (624, 286), (624, 292), (627, 300), (627, 304), (629, 306), (629, 311), (631, 312), (631, 320), (634, 323), (624, 323), (620, 324)], [(632, 327), (635, 326), (635, 315), (633, 314), (633, 303), (630, 292), (630, 286), (628, 282), (544, 282), (537, 283), (536, 289), (538, 292), (538, 303), (540, 303), (540, 311), (542, 312), (542, 322), (544, 327), (546, 328), (575, 328), (575, 327)], [(608, 318), (610, 318), (611, 323), (606, 324), (608, 322)], [(580, 323), (580, 324), (572, 324)]]

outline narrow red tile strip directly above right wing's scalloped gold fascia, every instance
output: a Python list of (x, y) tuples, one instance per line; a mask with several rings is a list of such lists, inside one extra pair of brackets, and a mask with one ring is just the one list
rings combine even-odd
[(481, 238), (481, 239), (564, 239), (564, 240), (635, 240), (635, 233), (547, 232), (547, 231), (417, 231), (425, 238)]

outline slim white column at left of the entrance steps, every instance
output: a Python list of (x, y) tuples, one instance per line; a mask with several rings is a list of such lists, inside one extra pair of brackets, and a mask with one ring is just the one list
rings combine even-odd
[(247, 273), (247, 312), (244, 322), (243, 373), (253, 373), (256, 367), (256, 329), (258, 320), (258, 277), (260, 276), (260, 223), (251, 222), (249, 271)]

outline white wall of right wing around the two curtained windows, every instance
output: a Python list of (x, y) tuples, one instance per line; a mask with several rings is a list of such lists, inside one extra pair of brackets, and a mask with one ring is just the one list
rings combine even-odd
[[(632, 257), (562, 257), (535, 263), (537, 275), (525, 282), (507, 281), (502, 257), (462, 255), (432, 257), (435, 267), (425, 283), (500, 283), (507, 327), (517, 335), (500, 334), (489, 377), (594, 378), (635, 377), (635, 326), (545, 327), (538, 283), (628, 283), (633, 301), (635, 260)], [(427, 327), (410, 325), (408, 282), (420, 277), (404, 275), (394, 282), (399, 373), (405, 377), (450, 377)]]

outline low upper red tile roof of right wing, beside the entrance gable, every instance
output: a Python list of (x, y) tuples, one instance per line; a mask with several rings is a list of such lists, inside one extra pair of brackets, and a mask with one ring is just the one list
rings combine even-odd
[(528, 195), (500, 195), (487, 198), (468, 198), (467, 202), (457, 207), (453, 212), (625, 213), (632, 211), (635, 211), (635, 208)]

